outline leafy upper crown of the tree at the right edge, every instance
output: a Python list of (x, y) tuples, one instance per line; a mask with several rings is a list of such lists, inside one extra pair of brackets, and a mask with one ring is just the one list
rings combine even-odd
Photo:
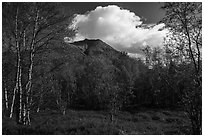
[(162, 22), (170, 29), (177, 48), (188, 47), (195, 72), (201, 70), (202, 4), (193, 2), (165, 3), (166, 15)]

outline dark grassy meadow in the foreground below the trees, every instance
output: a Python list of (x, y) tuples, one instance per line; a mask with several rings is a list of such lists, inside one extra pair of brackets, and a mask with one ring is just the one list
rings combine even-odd
[(3, 118), (2, 133), (29, 135), (174, 135), (190, 134), (190, 121), (182, 111), (140, 110), (135, 113), (118, 112), (110, 122), (108, 112), (56, 111), (32, 115), (31, 126), (17, 125), (13, 119)]

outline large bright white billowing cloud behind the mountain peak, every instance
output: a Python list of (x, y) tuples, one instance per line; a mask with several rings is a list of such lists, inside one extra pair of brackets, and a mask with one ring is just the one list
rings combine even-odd
[(70, 28), (77, 30), (74, 41), (89, 39), (101, 39), (115, 49), (133, 54), (142, 54), (141, 47), (150, 45), (161, 46), (163, 37), (167, 33), (161, 30), (164, 24), (153, 27), (140, 27), (143, 24), (141, 18), (135, 13), (122, 9), (116, 5), (97, 7), (84, 15), (78, 14)]

